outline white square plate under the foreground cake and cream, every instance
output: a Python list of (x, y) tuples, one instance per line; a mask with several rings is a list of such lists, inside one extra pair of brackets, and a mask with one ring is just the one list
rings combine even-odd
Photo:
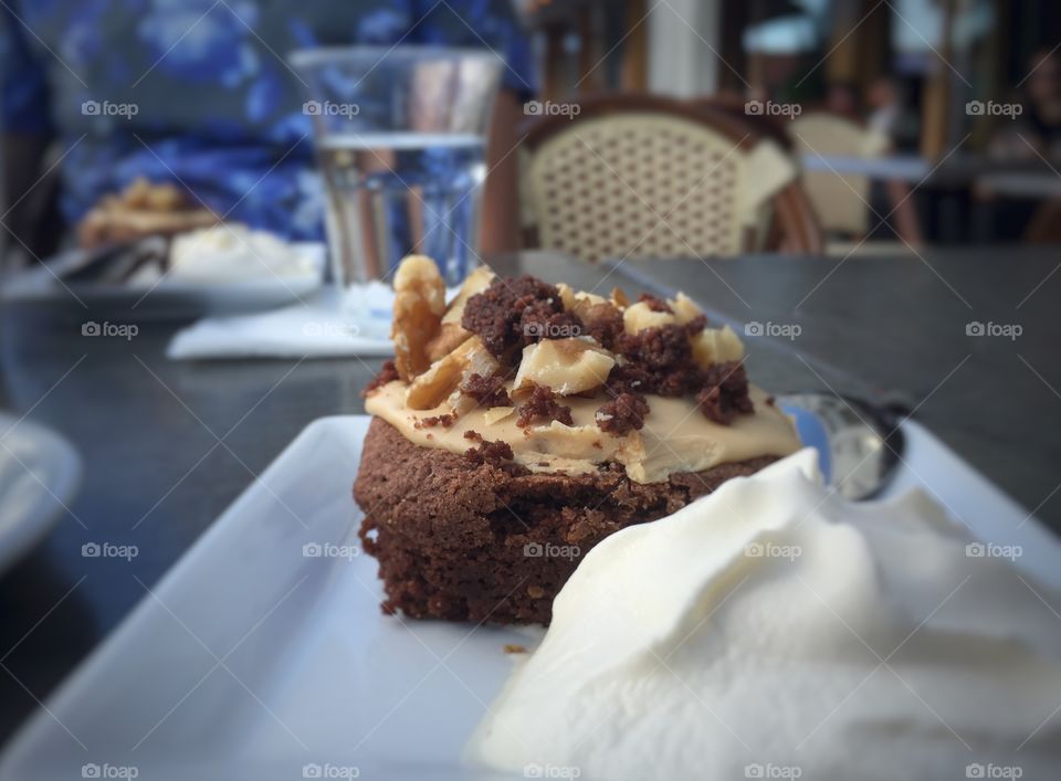
[[(367, 426), (309, 425), (30, 720), (0, 778), (496, 778), (461, 767), (461, 750), (508, 674), (503, 645), (533, 646), (540, 630), (380, 613), (375, 560), (354, 555)], [(887, 493), (931, 486), (1061, 588), (1053, 536), (924, 429), (903, 429)]]

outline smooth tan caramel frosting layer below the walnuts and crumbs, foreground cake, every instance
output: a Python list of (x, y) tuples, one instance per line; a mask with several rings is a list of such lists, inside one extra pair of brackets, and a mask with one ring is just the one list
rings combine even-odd
[[(512, 390), (511, 382), (507, 388)], [(623, 436), (597, 426), (597, 409), (607, 401), (603, 394), (563, 400), (571, 408), (572, 426), (550, 421), (524, 430), (516, 425), (514, 407), (487, 410), (465, 398), (455, 404), (447, 400), (429, 410), (412, 410), (406, 404), (407, 392), (400, 380), (388, 382), (368, 397), (365, 407), (423, 447), (464, 453), (473, 444), (464, 436), (470, 431), (485, 440), (507, 442), (516, 463), (532, 472), (581, 474), (613, 461), (622, 464), (635, 483), (656, 483), (675, 472), (702, 472), (760, 455), (786, 456), (800, 447), (791, 421), (755, 387), (749, 389), (755, 412), (739, 415), (729, 425), (706, 419), (691, 399), (648, 395), (651, 412), (644, 426)], [(453, 412), (456, 420), (450, 426), (424, 424), (427, 419)]]

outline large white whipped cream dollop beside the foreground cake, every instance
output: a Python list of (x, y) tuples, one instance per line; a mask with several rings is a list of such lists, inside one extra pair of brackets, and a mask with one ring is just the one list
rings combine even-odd
[(924, 494), (831, 494), (809, 450), (728, 481), (589, 552), (466, 758), (595, 779), (1057, 778), (1061, 598), (969, 542)]

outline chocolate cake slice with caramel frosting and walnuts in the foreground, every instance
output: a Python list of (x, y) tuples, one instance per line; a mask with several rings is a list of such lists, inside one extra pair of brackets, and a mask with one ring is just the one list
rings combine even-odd
[(395, 285), (396, 360), (366, 390), (354, 486), (387, 612), (548, 624), (605, 537), (799, 447), (736, 335), (682, 295), (480, 270), (445, 306), (419, 256)]

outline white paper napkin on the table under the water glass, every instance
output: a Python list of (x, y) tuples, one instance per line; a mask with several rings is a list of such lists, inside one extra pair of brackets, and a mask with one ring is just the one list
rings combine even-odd
[(207, 317), (178, 331), (166, 355), (174, 360), (390, 356), (393, 300), (393, 291), (381, 282), (346, 292), (326, 287), (305, 304)]

